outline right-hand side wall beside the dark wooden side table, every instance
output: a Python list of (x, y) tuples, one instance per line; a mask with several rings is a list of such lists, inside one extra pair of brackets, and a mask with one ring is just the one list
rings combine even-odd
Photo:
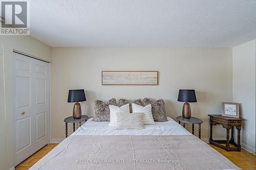
[(240, 115), (244, 119), (241, 142), (255, 149), (256, 41), (233, 47), (232, 51), (233, 102), (241, 103)]

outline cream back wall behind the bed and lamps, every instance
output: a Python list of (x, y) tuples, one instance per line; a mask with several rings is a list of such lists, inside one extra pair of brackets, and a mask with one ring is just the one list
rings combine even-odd
[[(158, 70), (158, 86), (102, 86), (102, 70)], [(72, 115), (68, 90), (84, 88), (82, 114), (94, 115), (96, 99), (164, 99), (167, 115), (176, 118), (183, 103), (178, 90), (195, 89), (192, 115), (203, 120), (202, 137), (209, 137), (208, 114), (221, 114), (221, 102), (232, 101), (231, 48), (52, 48), (51, 138), (65, 138), (63, 119)], [(187, 129), (190, 130), (190, 126)], [(70, 132), (72, 126), (70, 125)], [(198, 127), (196, 126), (196, 134)], [(225, 130), (215, 127), (215, 137)]]

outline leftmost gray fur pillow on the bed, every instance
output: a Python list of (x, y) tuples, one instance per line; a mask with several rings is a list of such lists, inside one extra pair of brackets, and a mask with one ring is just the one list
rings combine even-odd
[(110, 108), (109, 105), (117, 106), (116, 99), (111, 99), (108, 102), (102, 102), (96, 100), (94, 102), (95, 116), (93, 121), (95, 122), (109, 122), (110, 121)]

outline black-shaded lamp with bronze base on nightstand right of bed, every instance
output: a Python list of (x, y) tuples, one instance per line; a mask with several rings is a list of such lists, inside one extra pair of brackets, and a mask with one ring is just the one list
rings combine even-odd
[(197, 102), (195, 90), (179, 90), (179, 102), (185, 102), (182, 109), (183, 118), (191, 117), (191, 109), (188, 102)]

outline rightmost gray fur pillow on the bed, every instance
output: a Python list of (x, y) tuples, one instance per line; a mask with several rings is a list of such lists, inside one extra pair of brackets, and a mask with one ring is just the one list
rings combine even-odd
[(164, 101), (162, 99), (158, 100), (157, 102), (154, 102), (149, 98), (144, 98), (142, 100), (142, 103), (144, 106), (151, 104), (154, 121), (156, 121), (156, 122), (166, 122), (167, 121), (167, 117), (165, 114)]

